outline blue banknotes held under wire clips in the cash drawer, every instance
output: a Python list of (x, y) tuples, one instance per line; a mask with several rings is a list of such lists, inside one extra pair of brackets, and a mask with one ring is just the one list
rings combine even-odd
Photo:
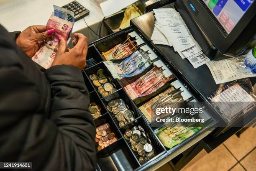
[(113, 78), (117, 79), (141, 74), (152, 64), (149, 56), (144, 51), (135, 51), (120, 64), (113, 61), (104, 61), (103, 63), (108, 68)]

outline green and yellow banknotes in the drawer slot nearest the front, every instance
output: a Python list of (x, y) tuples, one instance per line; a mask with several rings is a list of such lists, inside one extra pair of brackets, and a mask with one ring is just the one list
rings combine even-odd
[[(175, 126), (175, 127), (164, 127), (164, 128), (161, 128), (156, 133), (156, 135), (158, 136), (159, 140), (163, 143), (165, 147), (173, 148), (175, 145), (182, 143), (182, 141), (186, 140), (187, 138), (197, 133), (201, 128), (202, 127), (200, 126), (186, 127), (182, 125)], [(177, 133), (178, 131), (181, 131), (181, 132)], [(177, 133), (177, 134), (174, 135), (174, 133)]]

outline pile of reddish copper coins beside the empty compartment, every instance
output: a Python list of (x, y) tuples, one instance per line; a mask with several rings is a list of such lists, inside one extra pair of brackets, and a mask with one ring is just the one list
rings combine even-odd
[(96, 128), (95, 142), (98, 143), (97, 150), (108, 147), (108, 145), (117, 141), (118, 138), (115, 137), (115, 133), (113, 133), (110, 129), (109, 123), (104, 123)]

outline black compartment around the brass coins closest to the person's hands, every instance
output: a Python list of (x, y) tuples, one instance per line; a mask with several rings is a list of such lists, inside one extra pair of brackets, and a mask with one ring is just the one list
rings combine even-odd
[[(91, 74), (96, 74), (99, 69), (104, 69), (104, 70), (105, 70), (105, 74), (108, 75), (108, 77), (110, 77), (111, 79), (113, 79), (113, 83), (115, 84), (117, 90), (121, 88), (121, 87), (120, 87), (120, 84), (118, 84), (118, 81), (112, 77), (110, 71), (108, 70), (108, 68), (105, 66), (105, 64), (104, 64), (103, 62), (100, 62), (99, 64), (96, 64), (95, 66), (84, 70), (84, 73), (85, 73), (87, 79), (90, 80), (89, 76), (90, 76)], [(101, 94), (98, 92), (98, 87), (95, 86), (95, 85), (92, 83), (91, 80), (90, 80), (90, 83), (91, 83), (92, 87), (94, 87), (95, 92), (97, 92), (97, 94), (99, 95), (99, 97), (101, 97), (101, 98), (103, 99), (103, 97), (101, 96)], [(115, 87), (114, 87), (114, 88), (115, 88)], [(113, 92), (113, 93), (114, 93), (114, 92)], [(113, 93), (111, 93), (111, 94), (113, 94)], [(109, 94), (109, 95), (110, 95), (110, 94)], [(109, 95), (108, 95), (108, 96), (109, 96)], [(106, 96), (106, 97), (108, 97), (108, 96)]]

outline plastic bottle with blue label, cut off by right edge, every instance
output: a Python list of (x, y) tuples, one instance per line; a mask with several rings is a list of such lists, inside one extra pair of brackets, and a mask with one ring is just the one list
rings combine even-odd
[(256, 46), (246, 55), (244, 65), (246, 68), (251, 69), (251, 73), (256, 74)]

